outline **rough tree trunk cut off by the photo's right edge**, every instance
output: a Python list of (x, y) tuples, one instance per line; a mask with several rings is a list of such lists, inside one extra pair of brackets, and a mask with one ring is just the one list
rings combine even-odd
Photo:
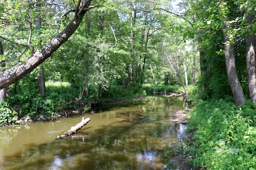
[[(250, 14), (250, 10), (247, 9), (246, 22), (249, 25), (253, 25), (255, 14)], [(250, 100), (256, 103), (256, 69), (255, 69), (255, 33), (252, 35), (247, 33), (246, 35), (246, 66), (247, 66), (247, 78)]]

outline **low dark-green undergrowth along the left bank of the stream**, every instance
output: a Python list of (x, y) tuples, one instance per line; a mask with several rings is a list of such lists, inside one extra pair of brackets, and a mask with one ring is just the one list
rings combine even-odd
[[(79, 89), (73, 88), (69, 83), (46, 82), (46, 86), (47, 92), (44, 96), (29, 85), (18, 85), (15, 91), (12, 88), (7, 101), (0, 102), (0, 126), (57, 119), (76, 110), (88, 110), (88, 100), (83, 98), (78, 102), (76, 99), (79, 98)], [(111, 89), (103, 91), (101, 99), (96, 98), (96, 91), (90, 90), (90, 87), (88, 91), (92, 104), (146, 95), (143, 89), (132, 86), (124, 89), (123, 86), (113, 85)]]

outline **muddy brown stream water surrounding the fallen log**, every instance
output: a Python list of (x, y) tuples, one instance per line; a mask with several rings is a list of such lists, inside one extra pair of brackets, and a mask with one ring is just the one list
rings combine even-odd
[[(175, 169), (173, 146), (186, 127), (169, 119), (181, 109), (180, 99), (149, 96), (55, 122), (0, 127), (0, 170)], [(75, 136), (56, 139), (83, 116), (91, 121)]]

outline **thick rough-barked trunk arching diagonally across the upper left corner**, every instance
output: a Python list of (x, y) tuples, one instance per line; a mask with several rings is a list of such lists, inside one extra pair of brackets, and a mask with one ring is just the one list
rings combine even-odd
[(91, 0), (83, 0), (81, 2), (81, 5), (79, 5), (80, 8), (77, 7), (77, 10), (75, 10), (75, 15), (73, 19), (70, 21), (70, 23), (66, 26), (66, 28), (64, 28), (64, 30), (61, 31), (61, 33), (59, 33), (43, 48), (38, 49), (35, 52), (35, 54), (33, 54), (31, 57), (29, 57), (29, 59), (27, 59), (20, 65), (17, 65), (1, 73), (0, 89), (8, 87), (9, 85), (13, 84), (14, 82), (29, 74), (38, 65), (44, 62), (44, 60), (50, 57), (64, 42), (66, 42), (68, 38), (79, 27), (86, 11), (88, 11), (90, 8), (98, 6), (90, 6), (90, 2)]

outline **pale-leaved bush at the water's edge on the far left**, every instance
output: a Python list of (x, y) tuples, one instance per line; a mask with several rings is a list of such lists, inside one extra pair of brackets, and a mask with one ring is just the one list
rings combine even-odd
[(17, 113), (12, 111), (7, 102), (0, 101), (0, 126), (12, 125), (17, 122)]

